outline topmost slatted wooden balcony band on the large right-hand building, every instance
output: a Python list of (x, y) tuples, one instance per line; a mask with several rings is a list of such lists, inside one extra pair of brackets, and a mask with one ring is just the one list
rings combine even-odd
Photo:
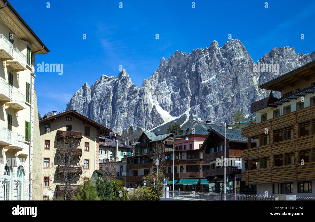
[(264, 133), (265, 128), (268, 128), (269, 131), (277, 130), (285, 126), (291, 126), (311, 119), (315, 119), (315, 105), (244, 127), (242, 129), (242, 137), (258, 136), (259, 134)]

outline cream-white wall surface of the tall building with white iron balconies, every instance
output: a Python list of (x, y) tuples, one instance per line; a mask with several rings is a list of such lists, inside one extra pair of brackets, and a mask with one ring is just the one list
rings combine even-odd
[[(6, 36), (7, 39), (9, 39), (9, 29), (0, 21), (0, 34), (3, 34)], [(17, 47), (22, 54), (26, 56), (26, 46), (32, 47), (25, 41), (18, 39), (16, 36), (14, 36), (14, 48)], [(26, 62), (26, 60), (25, 60)], [(34, 62), (34, 59), (33, 59)], [(26, 95), (26, 82), (31, 83), (31, 74), (34, 72), (34, 67), (26, 66), (26, 70), (14, 72), (14, 69), (6, 64), (7, 61), (0, 62), (0, 81), (4, 81), (5, 83), (9, 83), (9, 72), (13, 75), (13, 92), (19, 91), (23, 94), (23, 97), (25, 98)], [(33, 78), (34, 80), (34, 78)], [(1, 82), (0, 82), (1, 84)], [(3, 85), (1, 85), (3, 87)], [(31, 86), (34, 89), (34, 85)], [(34, 100), (33, 100), (34, 101)], [(22, 104), (25, 109), (20, 110), (16, 113), (14, 113), (14, 109), (12, 107), (7, 107), (5, 104), (2, 105), (1, 111), (0, 111), (0, 129), (1, 127), (7, 129), (8, 128), (8, 114), (12, 116), (12, 133), (18, 133), (24, 138), (22, 139), (23, 144), (23, 150), (13, 150), (13, 149), (7, 149), (8, 147), (5, 147), (4, 145), (0, 145), (0, 158), (3, 158), (3, 161), (0, 161), (0, 180), (3, 181), (3, 174), (4, 174), (4, 167), (6, 164), (6, 160), (9, 159), (11, 162), (14, 162), (15, 164), (12, 164), (11, 166), (11, 192), (9, 199), (16, 200), (17, 199), (17, 187), (15, 186), (15, 183), (17, 182), (17, 170), (18, 167), (21, 166), (22, 172), (23, 172), (23, 200), (29, 200), (29, 158), (32, 158), (29, 156), (30, 151), (30, 143), (31, 146), (33, 144), (32, 136), (30, 137), (30, 141), (25, 141), (25, 121), (31, 122), (30, 120), (30, 112), (33, 110), (31, 109), (31, 104), (24, 102)], [(33, 104), (32, 104), (33, 105)], [(31, 125), (32, 128), (32, 125)], [(3, 149), (4, 148), (4, 149)], [(32, 150), (32, 147), (31, 147)], [(32, 168), (31, 168), (32, 170)], [(0, 186), (0, 200), (4, 199), (4, 187)]]

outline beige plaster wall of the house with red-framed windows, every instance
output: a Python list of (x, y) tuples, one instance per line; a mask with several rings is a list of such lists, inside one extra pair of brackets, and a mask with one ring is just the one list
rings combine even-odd
[[(50, 124), (51, 130), (50, 134), (46, 134), (45, 132), (45, 124)], [(40, 144), (42, 149), (42, 163), (44, 161), (44, 158), (50, 158), (50, 169), (44, 169), (43, 168), (43, 176), (53, 176), (55, 174), (56, 166), (57, 164), (54, 164), (54, 158), (56, 153), (56, 145), (57, 145), (57, 130), (66, 130), (66, 125), (72, 125), (72, 131), (81, 131), (83, 132), (83, 138), (80, 142), (80, 145), (77, 148), (82, 149), (82, 156), (80, 158), (80, 161), (78, 162), (78, 165), (83, 166), (84, 165), (84, 159), (90, 160), (90, 169), (83, 169), (83, 173), (80, 175), (79, 180), (76, 184), (72, 185), (80, 185), (83, 183), (84, 177), (91, 177), (94, 170), (99, 169), (98, 165), (98, 139), (96, 137), (98, 136), (98, 131), (95, 127), (89, 125), (89, 124), (83, 124), (83, 121), (80, 119), (77, 119), (72, 116), (72, 121), (66, 121), (66, 115), (57, 117), (56, 120), (51, 121), (48, 120), (46, 122), (43, 122), (39, 125), (40, 129)], [(84, 136), (84, 126), (90, 127), (90, 136)], [(50, 150), (44, 150), (44, 144), (45, 140), (50, 140)], [(95, 140), (97, 143), (95, 143)], [(85, 152), (84, 151), (84, 143), (89, 142), (90, 144), (90, 151)], [(96, 160), (96, 161), (95, 161)], [(56, 185), (60, 184), (58, 182), (52, 182), (50, 181), (49, 187), (43, 187), (43, 195), (49, 196), (49, 198), (52, 198), (55, 196), (55, 188)], [(43, 185), (42, 185), (43, 186)]]

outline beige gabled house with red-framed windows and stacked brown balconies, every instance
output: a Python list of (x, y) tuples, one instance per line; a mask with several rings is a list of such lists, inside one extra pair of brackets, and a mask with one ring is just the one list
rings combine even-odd
[[(111, 130), (74, 110), (43, 117), (39, 120), (39, 128), (43, 150), (43, 199), (64, 199), (66, 184), (67, 189), (73, 191), (67, 197), (70, 199), (83, 180), (89, 180), (94, 170), (99, 169), (99, 137)], [(62, 140), (66, 147), (62, 147)], [(69, 140), (74, 142), (67, 142)], [(68, 155), (74, 158), (68, 160)], [(63, 176), (58, 174), (69, 178), (60, 181)]]

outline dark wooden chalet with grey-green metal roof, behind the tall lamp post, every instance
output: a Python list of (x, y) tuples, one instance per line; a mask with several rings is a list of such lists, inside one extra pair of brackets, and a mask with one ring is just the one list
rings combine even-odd
[[(252, 147), (256, 141), (252, 140)], [(241, 129), (226, 127), (226, 158), (233, 159), (226, 166), (226, 193), (255, 193), (255, 187), (245, 186), (241, 181), (241, 153), (247, 149), (247, 138), (241, 136)], [(209, 192), (224, 192), (224, 165), (217, 166), (217, 158), (224, 159), (224, 127), (218, 126), (209, 129), (209, 134), (201, 146), (203, 150), (203, 162), (210, 164), (210, 168), (203, 171), (203, 176), (209, 181)], [(223, 157), (223, 158), (222, 158)], [(238, 161), (238, 162), (237, 162)], [(234, 178), (236, 183), (234, 185)]]

